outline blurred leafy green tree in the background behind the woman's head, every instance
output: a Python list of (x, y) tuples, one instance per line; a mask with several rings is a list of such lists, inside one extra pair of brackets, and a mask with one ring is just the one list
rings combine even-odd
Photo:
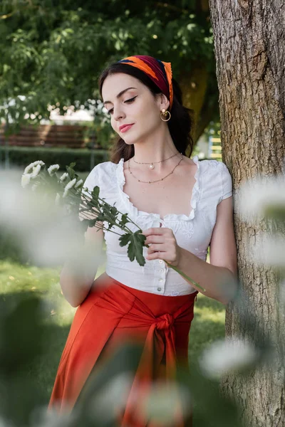
[(195, 141), (218, 120), (208, 1), (14, 0), (0, 15), (0, 118), (11, 132), (48, 119), (48, 105), (90, 107), (100, 71), (137, 54), (172, 63), (195, 111)]

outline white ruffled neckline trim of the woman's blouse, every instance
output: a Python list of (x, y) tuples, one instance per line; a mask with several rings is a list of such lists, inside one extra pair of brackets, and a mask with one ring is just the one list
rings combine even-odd
[(195, 218), (195, 211), (197, 209), (197, 201), (199, 198), (199, 170), (200, 170), (200, 162), (199, 157), (196, 155), (193, 157), (193, 162), (197, 164), (197, 171), (195, 172), (194, 179), (195, 184), (192, 189), (192, 197), (190, 201), (190, 206), (192, 206), (192, 211), (190, 212), (190, 215), (185, 214), (166, 214), (162, 218), (160, 218), (160, 214), (153, 214), (145, 211), (139, 211), (133, 203), (130, 201), (130, 196), (126, 194), (123, 191), (124, 185), (125, 185), (125, 174), (124, 174), (124, 159), (120, 159), (120, 162), (117, 164), (117, 182), (118, 182), (118, 189), (120, 193), (120, 198), (123, 201), (123, 204), (126, 206), (128, 211), (130, 212), (130, 215), (133, 216), (133, 218), (138, 218), (138, 216), (152, 216), (153, 218), (156, 218), (160, 222), (164, 222), (166, 220), (168, 221), (191, 221)]

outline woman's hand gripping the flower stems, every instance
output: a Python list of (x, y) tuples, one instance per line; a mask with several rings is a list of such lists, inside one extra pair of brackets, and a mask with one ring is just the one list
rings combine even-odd
[(145, 245), (151, 243), (150, 248), (147, 248), (147, 260), (161, 259), (177, 267), (181, 248), (171, 228), (147, 228), (142, 234), (146, 236)]

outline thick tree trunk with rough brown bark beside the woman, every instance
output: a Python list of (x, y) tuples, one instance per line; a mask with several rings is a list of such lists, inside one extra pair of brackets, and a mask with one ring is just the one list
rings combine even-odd
[[(284, 173), (285, 159), (285, 3), (284, 0), (210, 0), (217, 60), (223, 161), (239, 186), (258, 174)], [(274, 343), (278, 361), (271, 369), (259, 367), (244, 380), (229, 374), (222, 392), (237, 400), (248, 426), (285, 426), (284, 354), (285, 322), (279, 307), (279, 278), (274, 269), (247, 260), (247, 243), (264, 230), (264, 223), (249, 226), (234, 209), (239, 283), (247, 302), (227, 307), (227, 337)], [(245, 301), (245, 300), (244, 300)], [(246, 301), (245, 301), (246, 302)], [(247, 312), (248, 311), (248, 312)], [(248, 330), (244, 314), (254, 318)], [(282, 362), (283, 358), (283, 362)]]

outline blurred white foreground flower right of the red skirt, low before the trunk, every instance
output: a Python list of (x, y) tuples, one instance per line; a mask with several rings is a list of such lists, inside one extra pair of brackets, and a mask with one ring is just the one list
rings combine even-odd
[(251, 342), (238, 337), (219, 339), (202, 352), (200, 368), (205, 376), (219, 379), (222, 374), (249, 366), (259, 358)]

